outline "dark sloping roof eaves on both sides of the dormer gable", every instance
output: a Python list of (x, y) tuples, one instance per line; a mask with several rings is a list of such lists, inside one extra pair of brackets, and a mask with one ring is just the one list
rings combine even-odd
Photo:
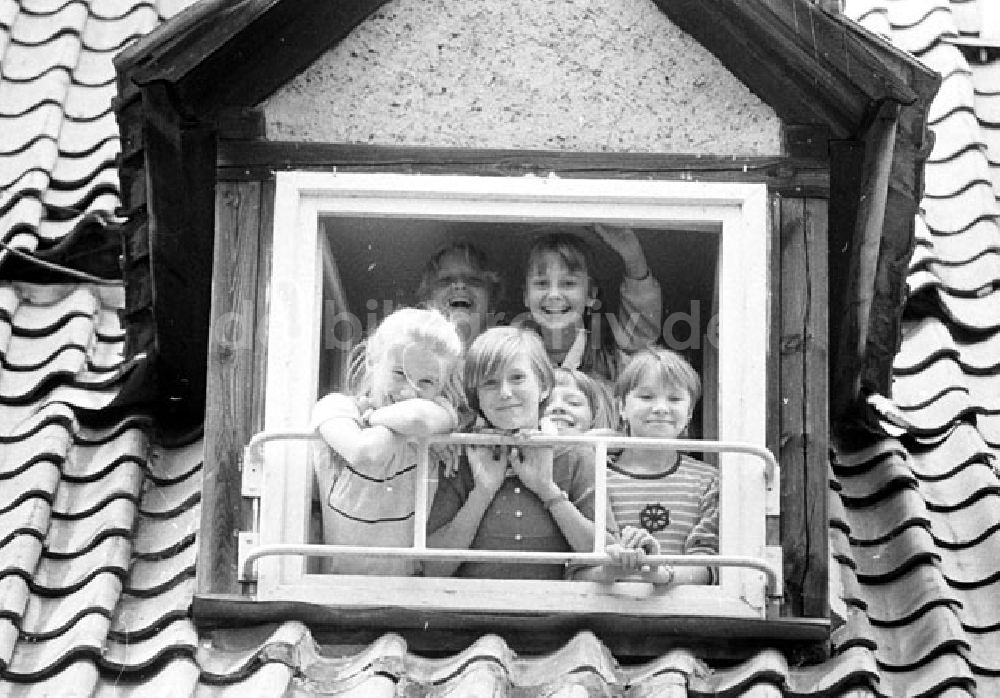
[[(872, 102), (909, 105), (936, 86), (911, 56), (811, 0), (655, 3), (785, 122), (834, 138), (856, 135)], [(116, 58), (120, 93), (168, 83), (200, 115), (257, 104), (385, 4), (203, 0)]]

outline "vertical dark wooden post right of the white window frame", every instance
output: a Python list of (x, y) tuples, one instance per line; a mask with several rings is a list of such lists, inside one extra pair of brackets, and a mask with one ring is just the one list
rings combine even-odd
[(786, 610), (829, 612), (827, 202), (781, 201), (781, 537)]

